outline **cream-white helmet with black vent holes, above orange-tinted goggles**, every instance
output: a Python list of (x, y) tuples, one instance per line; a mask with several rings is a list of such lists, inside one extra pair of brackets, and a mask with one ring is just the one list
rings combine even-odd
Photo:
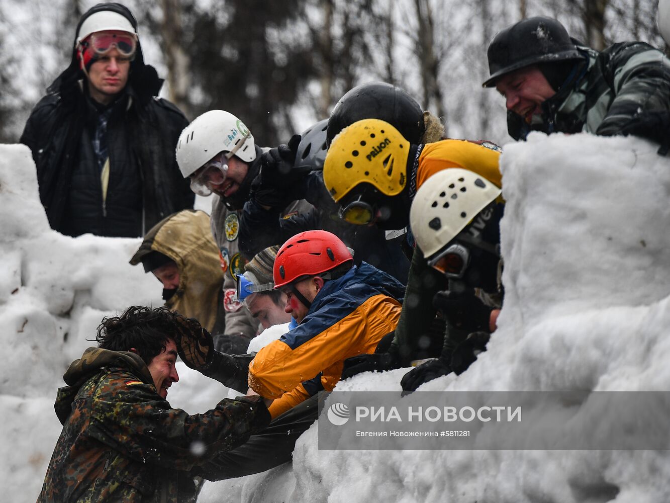
[(444, 248), (489, 203), (500, 188), (483, 176), (461, 168), (433, 174), (417, 190), (409, 224), (427, 260)]

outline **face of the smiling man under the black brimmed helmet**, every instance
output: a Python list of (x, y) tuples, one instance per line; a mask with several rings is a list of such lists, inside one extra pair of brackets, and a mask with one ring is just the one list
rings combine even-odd
[(556, 92), (537, 66), (526, 66), (501, 76), (496, 89), (507, 103), (508, 110), (521, 115), (527, 123), (541, 113), (541, 105)]

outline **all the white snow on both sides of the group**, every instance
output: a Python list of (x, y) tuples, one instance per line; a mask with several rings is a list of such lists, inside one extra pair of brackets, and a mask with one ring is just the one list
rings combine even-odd
[[(641, 139), (534, 133), (501, 158), (505, 307), (468, 372), (421, 390), (668, 390), (670, 160)], [(206, 205), (206, 201), (200, 201)], [(127, 264), (139, 239), (48, 227), (24, 146), (0, 146), (3, 500), (36, 500), (60, 423), (56, 388), (104, 316), (161, 305)], [(277, 337), (282, 329), (263, 334)], [(259, 343), (257, 343), (259, 345)], [(173, 406), (203, 412), (228, 390), (180, 364)], [(336, 390), (400, 390), (405, 370)], [(314, 425), (293, 466), (206, 483), (200, 502), (656, 503), (663, 451), (319, 451)]]

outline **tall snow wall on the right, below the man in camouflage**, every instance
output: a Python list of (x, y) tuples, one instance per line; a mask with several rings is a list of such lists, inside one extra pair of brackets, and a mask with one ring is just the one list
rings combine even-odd
[[(468, 372), (419, 391), (670, 389), (670, 159), (656, 150), (635, 138), (539, 133), (504, 147), (498, 330)], [(335, 391), (399, 391), (405, 372), (361, 374)], [(568, 422), (587, 405), (557, 413)], [(621, 503), (670, 494), (667, 451), (319, 451), (317, 433), (297, 443), (292, 501)]]

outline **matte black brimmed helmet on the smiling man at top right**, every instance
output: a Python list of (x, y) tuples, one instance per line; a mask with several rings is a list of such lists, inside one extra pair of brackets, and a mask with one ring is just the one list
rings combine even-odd
[(482, 86), (494, 87), (502, 75), (531, 64), (580, 57), (565, 27), (553, 17), (522, 19), (500, 30), (488, 45), (491, 76)]

